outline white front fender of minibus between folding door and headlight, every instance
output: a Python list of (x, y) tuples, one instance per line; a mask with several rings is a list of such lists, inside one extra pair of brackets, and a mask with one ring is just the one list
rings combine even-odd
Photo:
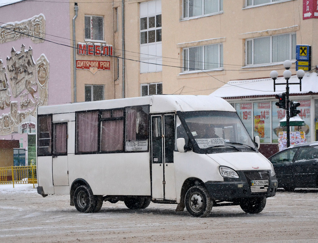
[(206, 154), (173, 152), (175, 164), (176, 197), (180, 202), (180, 194), (184, 181), (188, 178), (198, 178), (203, 182), (224, 181), (218, 171), (219, 164)]

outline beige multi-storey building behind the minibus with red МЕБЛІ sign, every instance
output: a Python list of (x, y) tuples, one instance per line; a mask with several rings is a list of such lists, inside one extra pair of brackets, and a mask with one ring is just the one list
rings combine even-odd
[[(74, 16), (72, 4), (70, 16)], [(270, 72), (277, 70), (278, 80), (284, 79), (283, 62), (291, 60), (292, 77), (296, 77), (296, 45), (309, 45), (311, 66), (300, 68), (306, 71), (303, 90), (294, 87), (291, 95), (293, 100), (304, 101), (308, 141), (317, 139), (318, 90), (310, 90), (318, 81), (317, 1), (83, 0), (78, 7), (76, 47), (82, 49), (85, 44), (88, 53), (96, 45), (109, 46), (113, 53), (83, 56), (83, 50), (81, 55), (76, 51), (76, 60), (107, 61), (109, 70), (91, 64), (76, 69), (75, 101), (151, 94), (218, 95), (232, 103), (250, 134), (260, 135), (266, 144), (263, 148), (273, 152), (276, 131), (281, 130), (276, 123), (284, 114), (275, 106), (275, 94), (284, 91), (273, 92)], [(255, 86), (258, 89), (253, 88), (261, 81), (262, 85)], [(242, 107), (250, 108), (249, 121), (244, 121), (242, 114), (247, 110), (240, 110)], [(260, 112), (268, 119), (262, 135), (255, 125)], [(306, 113), (301, 114), (305, 118)]]

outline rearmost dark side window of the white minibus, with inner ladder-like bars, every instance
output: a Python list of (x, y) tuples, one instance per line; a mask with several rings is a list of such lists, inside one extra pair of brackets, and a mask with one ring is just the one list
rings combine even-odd
[(38, 116), (38, 155), (52, 155), (52, 115)]

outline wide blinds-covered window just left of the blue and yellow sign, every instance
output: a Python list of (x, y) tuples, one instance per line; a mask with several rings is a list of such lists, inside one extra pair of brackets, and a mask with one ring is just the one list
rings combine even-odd
[(296, 59), (296, 34), (246, 40), (246, 64), (258, 65)]

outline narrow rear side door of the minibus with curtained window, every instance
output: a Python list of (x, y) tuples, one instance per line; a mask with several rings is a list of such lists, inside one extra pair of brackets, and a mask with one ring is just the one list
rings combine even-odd
[(67, 122), (53, 123), (53, 186), (68, 186)]

